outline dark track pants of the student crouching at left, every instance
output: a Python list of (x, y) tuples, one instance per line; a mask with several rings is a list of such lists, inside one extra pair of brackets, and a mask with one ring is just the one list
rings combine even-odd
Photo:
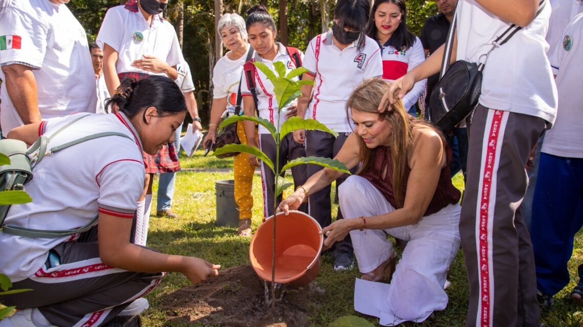
[(60, 257), (61, 265), (52, 268), (47, 260), (33, 276), (13, 283), (13, 289), (32, 289), (30, 292), (2, 296), (2, 304), (38, 308), (59, 327), (103, 326), (154, 289), (164, 276), (103, 264), (96, 241), (65, 242), (52, 251)]

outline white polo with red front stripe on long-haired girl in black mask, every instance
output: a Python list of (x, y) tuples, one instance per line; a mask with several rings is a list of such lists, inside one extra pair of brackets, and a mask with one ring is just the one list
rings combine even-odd
[(314, 96), (305, 112), (326, 127), (346, 133), (352, 120), (346, 118), (346, 101), (361, 81), (382, 76), (381, 49), (366, 37), (362, 49), (359, 40), (340, 51), (332, 42), (332, 30), (312, 38), (305, 51), (303, 66), (315, 76)]

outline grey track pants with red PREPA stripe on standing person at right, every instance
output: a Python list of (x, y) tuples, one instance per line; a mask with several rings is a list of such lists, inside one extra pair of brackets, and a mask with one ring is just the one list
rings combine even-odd
[(545, 120), (478, 105), (468, 127), (459, 233), (470, 286), (466, 326), (539, 327), (531, 238), (519, 208)]

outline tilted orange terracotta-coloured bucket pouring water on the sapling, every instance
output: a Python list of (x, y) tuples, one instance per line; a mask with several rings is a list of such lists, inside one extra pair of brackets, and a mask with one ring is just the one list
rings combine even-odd
[[(259, 226), (249, 248), (251, 266), (259, 278), (268, 282), (272, 275), (273, 219), (271, 216)], [(279, 213), (275, 219), (275, 282), (307, 285), (320, 271), (322, 228), (314, 218), (300, 211), (290, 211), (288, 216)]]

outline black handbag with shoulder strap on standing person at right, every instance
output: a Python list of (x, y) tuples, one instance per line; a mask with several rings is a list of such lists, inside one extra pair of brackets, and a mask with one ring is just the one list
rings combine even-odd
[[(540, 1), (538, 15), (545, 6)], [(457, 11), (453, 24), (449, 27), (441, 63), (440, 80), (431, 92), (429, 99), (429, 119), (441, 129), (451, 129), (472, 113), (482, 93), (482, 72), (490, 52), (508, 42), (512, 35), (522, 27), (512, 24), (492, 42), (492, 48), (479, 57), (479, 63), (458, 60), (451, 66), (451, 52), (454, 45), (454, 33), (457, 23)]]

